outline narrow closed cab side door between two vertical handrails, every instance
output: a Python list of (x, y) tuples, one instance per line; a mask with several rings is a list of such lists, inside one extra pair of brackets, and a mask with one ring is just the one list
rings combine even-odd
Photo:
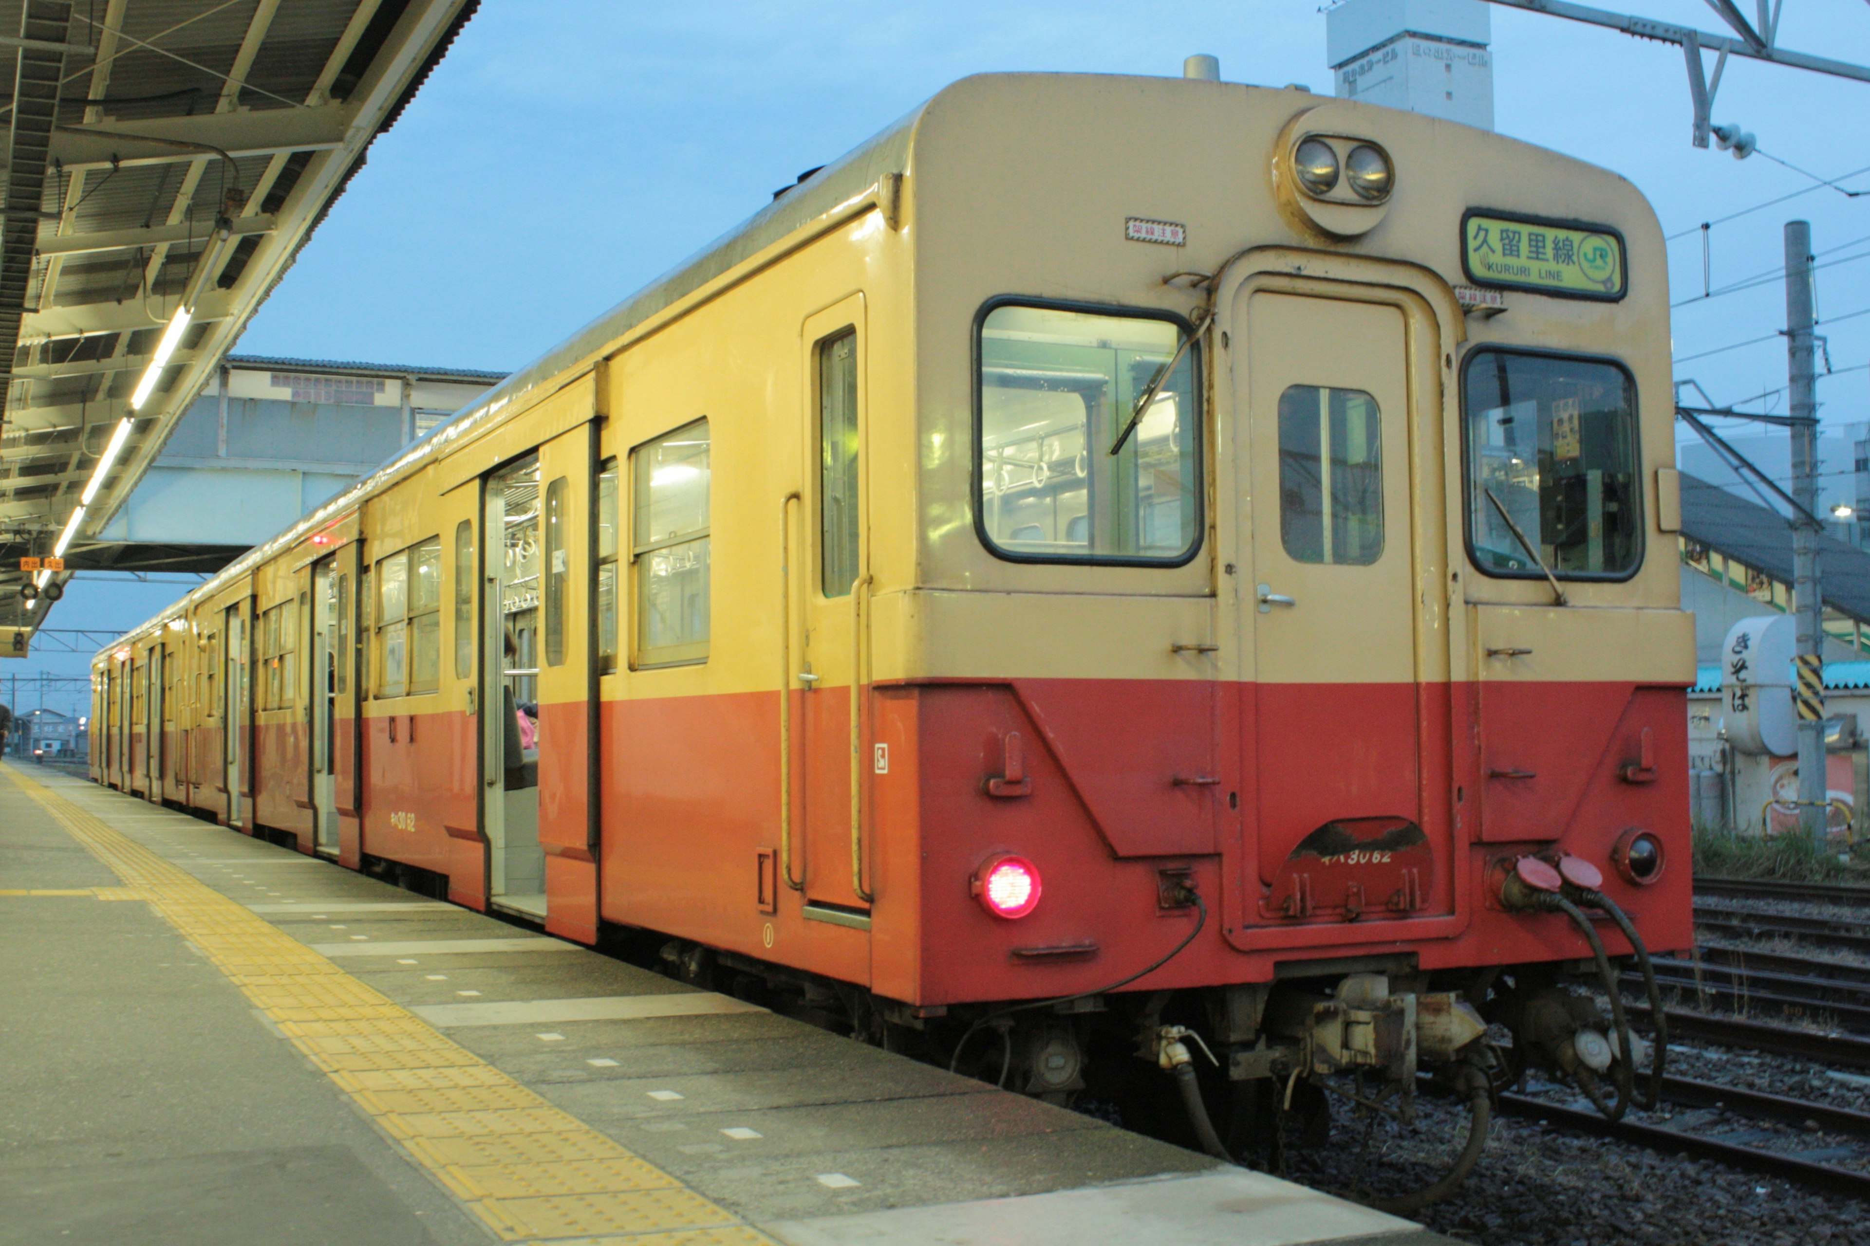
[[(853, 306), (855, 304), (855, 306)], [(866, 826), (870, 755), (866, 659), (870, 575), (864, 488), (862, 304), (851, 299), (806, 321), (810, 405), (806, 540), (793, 573), (802, 598), (795, 678), (804, 915), (870, 928), (873, 878)]]

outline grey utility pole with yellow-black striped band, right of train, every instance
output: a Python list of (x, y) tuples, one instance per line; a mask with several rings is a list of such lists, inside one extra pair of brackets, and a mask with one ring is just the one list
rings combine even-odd
[(1818, 396), (1812, 359), (1812, 226), (1786, 222), (1786, 374), (1791, 398), (1791, 497), (1803, 508), (1793, 516), (1791, 579), (1799, 622), (1799, 828), (1823, 839), (1827, 824), (1825, 785), (1825, 605), (1818, 583)]

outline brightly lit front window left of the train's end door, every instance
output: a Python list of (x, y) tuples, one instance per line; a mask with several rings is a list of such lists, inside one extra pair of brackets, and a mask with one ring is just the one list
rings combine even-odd
[(999, 304), (982, 318), (976, 527), (993, 553), (1167, 566), (1195, 557), (1201, 370), (1184, 346), (1180, 323), (1154, 316)]

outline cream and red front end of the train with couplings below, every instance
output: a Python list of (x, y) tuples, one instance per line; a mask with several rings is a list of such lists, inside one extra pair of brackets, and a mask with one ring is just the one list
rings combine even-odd
[(918, 587), (873, 607), (873, 729), (914, 760), (873, 824), (920, 912), (873, 988), (1036, 1093), (1101, 1033), (1287, 1106), (1526, 1059), (1640, 1098), (1591, 988), (1692, 942), (1694, 678), (1644, 198), (1090, 77), (950, 88), (909, 187)]

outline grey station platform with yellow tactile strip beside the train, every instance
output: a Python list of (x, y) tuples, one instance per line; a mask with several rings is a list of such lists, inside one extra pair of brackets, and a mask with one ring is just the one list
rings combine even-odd
[(7, 1244), (1447, 1242), (41, 768), (0, 953)]

